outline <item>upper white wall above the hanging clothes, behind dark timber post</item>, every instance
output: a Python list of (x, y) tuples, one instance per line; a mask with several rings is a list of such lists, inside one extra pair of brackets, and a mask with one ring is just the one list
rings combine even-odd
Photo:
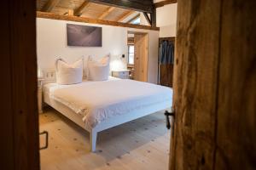
[[(162, 0), (154, 0), (158, 3)], [(156, 26), (160, 27), (160, 37), (176, 37), (177, 3), (156, 8)], [(144, 15), (141, 14), (141, 24), (148, 26)]]

